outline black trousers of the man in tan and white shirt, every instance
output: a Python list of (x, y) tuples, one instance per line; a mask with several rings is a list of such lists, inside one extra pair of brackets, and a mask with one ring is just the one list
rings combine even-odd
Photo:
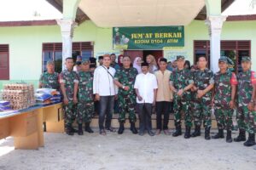
[[(171, 102), (160, 101), (156, 102), (156, 127), (157, 129), (168, 129), (169, 122), (169, 111), (170, 111)], [(164, 115), (163, 126), (162, 126), (162, 114)]]

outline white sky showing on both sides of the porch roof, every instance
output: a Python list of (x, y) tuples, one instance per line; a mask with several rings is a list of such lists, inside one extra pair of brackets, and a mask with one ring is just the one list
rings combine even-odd
[[(236, 0), (223, 14), (256, 14), (256, 0)], [(0, 0), (0, 21), (61, 18), (61, 12), (45, 0)]]

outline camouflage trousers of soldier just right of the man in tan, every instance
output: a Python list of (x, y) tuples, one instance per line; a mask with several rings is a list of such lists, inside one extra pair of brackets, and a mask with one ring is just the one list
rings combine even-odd
[(188, 127), (192, 127), (192, 116), (190, 112), (190, 101), (186, 99), (181, 99), (174, 95), (173, 99), (173, 112), (174, 112), (174, 122), (175, 126), (181, 126), (181, 111), (184, 112), (184, 121), (185, 125)]

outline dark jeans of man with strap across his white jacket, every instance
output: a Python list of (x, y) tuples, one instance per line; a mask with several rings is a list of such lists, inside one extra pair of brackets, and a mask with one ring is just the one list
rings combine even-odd
[(111, 120), (113, 116), (113, 102), (114, 96), (101, 96), (100, 97), (100, 112), (99, 112), (99, 127), (104, 129), (104, 120), (106, 116), (105, 127), (111, 127)]

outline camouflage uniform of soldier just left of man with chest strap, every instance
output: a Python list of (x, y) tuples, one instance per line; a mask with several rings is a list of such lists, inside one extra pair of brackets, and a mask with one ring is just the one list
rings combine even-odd
[(79, 72), (78, 124), (89, 123), (94, 114), (93, 73)]

